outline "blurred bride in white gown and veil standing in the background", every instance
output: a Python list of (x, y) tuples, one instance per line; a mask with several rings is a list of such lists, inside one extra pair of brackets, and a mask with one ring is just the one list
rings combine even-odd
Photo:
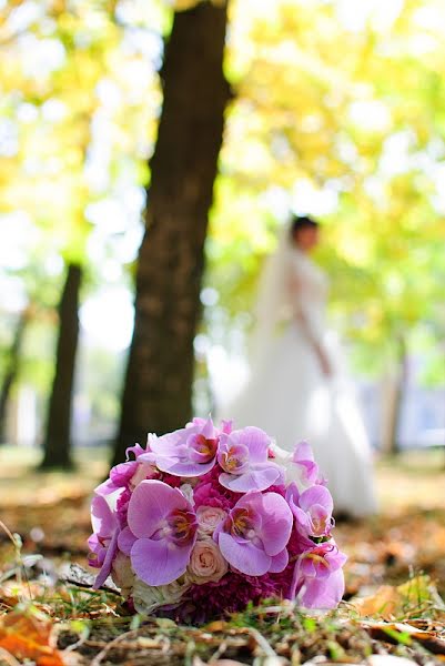
[(260, 284), (251, 379), (224, 412), (287, 451), (307, 441), (337, 514), (364, 516), (375, 511), (371, 448), (340, 345), (326, 330), (327, 279), (310, 258), (317, 243), (310, 218), (284, 230)]

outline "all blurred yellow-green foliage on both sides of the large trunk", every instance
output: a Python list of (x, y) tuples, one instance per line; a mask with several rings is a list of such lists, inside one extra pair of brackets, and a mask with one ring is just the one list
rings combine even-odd
[[(63, 262), (83, 263), (84, 296), (110, 280), (131, 283), (129, 238), (162, 104), (161, 39), (172, 10), (195, 2), (0, 8), (0, 224), (3, 239), (20, 228), (22, 245), (20, 261), (1, 260), (0, 278), (19, 281), (32, 304), (21, 372), (41, 392)], [(318, 260), (357, 366), (381, 373), (403, 335), (427, 359), (425, 381), (444, 381), (444, 11), (441, 0), (232, 0), (234, 99), (208, 239), (216, 297), (204, 332), (214, 342), (252, 323), (259, 272), (294, 208), (324, 223)], [(2, 311), (0, 372), (16, 315)], [(99, 402), (115, 411), (110, 396)]]

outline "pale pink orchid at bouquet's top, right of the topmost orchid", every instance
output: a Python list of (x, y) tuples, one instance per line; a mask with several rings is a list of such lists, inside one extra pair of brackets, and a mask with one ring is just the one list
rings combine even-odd
[(283, 470), (269, 457), (271, 440), (259, 427), (221, 434), (218, 462), (222, 486), (234, 493), (265, 491), (283, 481)]

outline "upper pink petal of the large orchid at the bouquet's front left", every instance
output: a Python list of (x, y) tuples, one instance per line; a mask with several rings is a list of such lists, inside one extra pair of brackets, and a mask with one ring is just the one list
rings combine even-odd
[(128, 511), (128, 524), (139, 538), (148, 537), (174, 508), (188, 508), (182, 493), (162, 481), (142, 481), (133, 491)]

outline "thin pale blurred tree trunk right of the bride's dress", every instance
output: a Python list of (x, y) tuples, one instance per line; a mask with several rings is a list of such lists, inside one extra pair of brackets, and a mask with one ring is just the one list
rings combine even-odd
[(408, 353), (403, 334), (397, 335), (397, 361), (394, 374), (386, 380), (383, 418), (383, 452), (396, 455), (401, 452), (398, 438), (402, 406), (408, 377)]

